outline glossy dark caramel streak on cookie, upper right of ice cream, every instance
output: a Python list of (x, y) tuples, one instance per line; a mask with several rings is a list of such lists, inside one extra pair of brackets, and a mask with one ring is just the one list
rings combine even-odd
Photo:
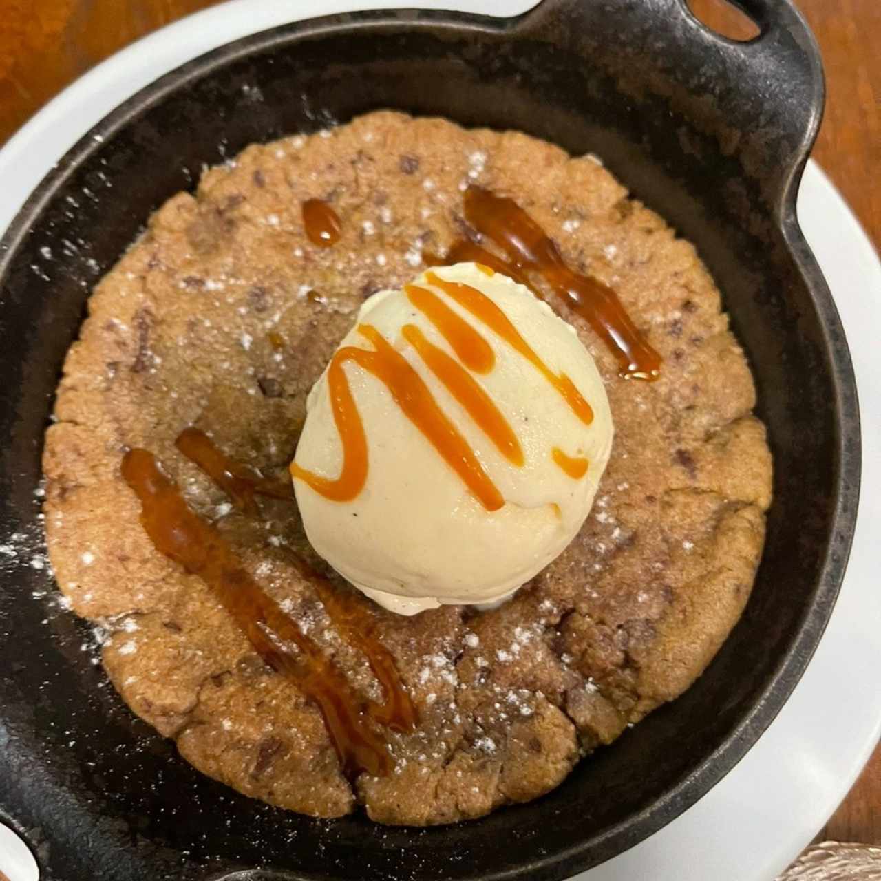
[(570, 270), (559, 248), (513, 199), (470, 186), (464, 195), (465, 218), (505, 252), (507, 260), (468, 241), (456, 241), (445, 262), (478, 260), (531, 287), (526, 278), (536, 272), (552, 291), (587, 321), (615, 354), (626, 379), (654, 381), (661, 371), (661, 356), (645, 340), (627, 315), (618, 295), (597, 278)]

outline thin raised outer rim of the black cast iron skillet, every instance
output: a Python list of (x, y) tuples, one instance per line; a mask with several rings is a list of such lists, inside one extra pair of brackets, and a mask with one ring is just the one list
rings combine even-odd
[[(744, 5), (753, 3), (756, 3), (756, 0), (751, 0), (750, 4), (744, 3)], [(514, 19), (493, 19), (468, 13), (424, 10), (343, 13), (276, 26), (270, 30), (226, 43), (203, 56), (198, 56), (144, 86), (130, 99), (115, 107), (58, 160), (56, 166), (49, 171), (33, 190), (31, 196), (27, 198), (0, 239), (0, 278), (3, 278), (11, 262), (11, 256), (25, 239), (34, 221), (40, 216), (41, 211), (55, 195), (56, 189), (63, 184), (67, 177), (93, 152), (100, 149), (102, 141), (113, 137), (115, 132), (120, 130), (133, 116), (138, 115), (145, 107), (161, 100), (181, 84), (209, 75), (213, 70), (256, 51), (280, 48), (292, 37), (301, 39), (347, 29), (369, 30), (374, 26), (448, 27), (460, 35), (469, 30), (490, 30), (503, 33), (516, 27), (524, 19), (528, 19), (533, 11), (528, 11)], [(801, 18), (797, 12), (795, 14), (799, 19)], [(806, 26), (805, 31), (810, 33), (807, 32)], [(836, 410), (840, 416), (835, 438), (838, 468), (834, 480), (835, 504), (832, 530), (824, 563), (818, 573), (817, 593), (814, 602), (805, 611), (802, 624), (788, 651), (782, 655), (774, 674), (770, 677), (766, 690), (755, 701), (750, 711), (744, 715), (737, 727), (730, 731), (729, 736), (722, 741), (716, 751), (707, 756), (692, 771), (692, 774), (679, 781), (663, 796), (657, 798), (654, 803), (590, 840), (590, 848), (595, 850), (599, 848), (607, 852), (607, 856), (603, 859), (610, 858), (611, 855), (632, 847), (676, 818), (704, 796), (725, 774), (728, 774), (751, 749), (751, 746), (755, 744), (768, 725), (774, 721), (810, 662), (832, 614), (847, 566), (860, 484), (860, 418), (855, 377), (838, 311), (818, 264), (803, 238), (796, 218), (798, 185), (817, 134), (825, 97), (818, 48), (813, 41), (811, 41), (810, 48), (809, 56), (811, 56), (814, 74), (812, 104), (815, 112), (799, 140), (796, 159), (789, 169), (787, 180), (775, 204), (774, 215), (777, 226), (783, 233), (818, 310), (825, 337), (825, 356), (829, 361), (835, 390)], [(100, 136), (100, 138), (95, 136)], [(548, 871), (563, 873), (555, 877), (567, 877), (582, 870), (586, 865), (596, 864), (595, 860), (585, 861), (582, 858), (581, 852), (586, 844), (587, 842), (581, 842), (570, 848), (545, 854), (530, 862), (529, 865), (520, 866), (513, 870), (500, 870), (467, 877), (473, 881), (490, 881), (490, 879), (502, 881), (502, 879), (515, 877), (530, 877), (536, 872), (542, 872), (542, 877), (547, 877), (544, 873)], [(222, 877), (227, 876), (224, 874)], [(248, 873), (240, 876), (238, 872), (233, 871), (233, 874), (228, 877), (248, 877)], [(271, 872), (266, 877), (292, 876), (286, 872), (275, 876), (275, 873)]]

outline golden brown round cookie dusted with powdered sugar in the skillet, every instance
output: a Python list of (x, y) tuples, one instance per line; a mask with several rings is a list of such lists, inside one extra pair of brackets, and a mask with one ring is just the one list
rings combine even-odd
[[(158, 455), (251, 574), (375, 695), (364, 659), (292, 566), (291, 549), (310, 553), (294, 507), (268, 500), (263, 519), (241, 515), (174, 438), (199, 426), (282, 474), (307, 390), (361, 302), (463, 233), (470, 182), (514, 197), (571, 265), (612, 285), (663, 354), (663, 375), (618, 379), (611, 353), (564, 314), (615, 421), (595, 507), (566, 552), (498, 610), (400, 618), (371, 606), (421, 724), (393, 737), (394, 774), (353, 788), (317, 709), (263, 665), (202, 581), (153, 549), (120, 461), (134, 446)], [(300, 204), (312, 197), (343, 220), (333, 248), (304, 233)], [(79, 615), (108, 628), (103, 662), (132, 710), (248, 796), (320, 817), (363, 803), (380, 822), (415, 825), (540, 796), (584, 751), (691, 685), (750, 594), (771, 456), (720, 310), (694, 248), (595, 158), (391, 112), (250, 146), (207, 171), (195, 196), (163, 205), (89, 300), (44, 453), (58, 583)]]

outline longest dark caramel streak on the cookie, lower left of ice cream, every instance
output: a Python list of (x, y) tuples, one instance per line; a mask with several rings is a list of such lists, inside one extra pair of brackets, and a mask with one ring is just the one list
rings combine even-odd
[[(189, 508), (152, 453), (130, 450), (122, 459), (122, 477), (141, 501), (141, 523), (156, 549), (201, 578), (263, 660), (315, 701), (344, 774), (389, 774), (388, 746), (371, 722), (389, 718), (389, 707), (403, 706), (397, 692), (387, 692), (389, 707), (362, 699), (315, 641), (251, 578), (217, 529)], [(291, 653), (291, 645), (300, 655)], [(396, 720), (411, 726), (415, 711), (409, 719), (402, 714)]]

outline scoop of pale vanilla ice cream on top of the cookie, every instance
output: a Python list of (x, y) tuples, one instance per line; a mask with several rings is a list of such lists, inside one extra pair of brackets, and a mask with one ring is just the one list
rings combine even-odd
[[(366, 300), (356, 327), (340, 345), (372, 351), (358, 325), (377, 329), (426, 382), (505, 500), (488, 511), (404, 415), (386, 385), (358, 364), (345, 363), (366, 433), (366, 483), (355, 499), (344, 502), (325, 498), (300, 478), (294, 479), (294, 490), (315, 551), (366, 596), (405, 615), (441, 603), (495, 603), (529, 581), (581, 529), (612, 441), (603, 381), (571, 325), (500, 273), (487, 275), (474, 263), (433, 271), (476, 288), (500, 307), (544, 364), (574, 382), (594, 418), (586, 425), (536, 366), (423, 274), (414, 284), (435, 293), (492, 347), (492, 370), (470, 375), (520, 441), (524, 463), (512, 464), (403, 338), (403, 326), (415, 324), (455, 358), (426, 315), (403, 291), (381, 291)], [(566, 473), (554, 461), (553, 448), (586, 457), (587, 472), (580, 478)], [(326, 478), (340, 474), (343, 447), (327, 370), (309, 393), (294, 463)]]

